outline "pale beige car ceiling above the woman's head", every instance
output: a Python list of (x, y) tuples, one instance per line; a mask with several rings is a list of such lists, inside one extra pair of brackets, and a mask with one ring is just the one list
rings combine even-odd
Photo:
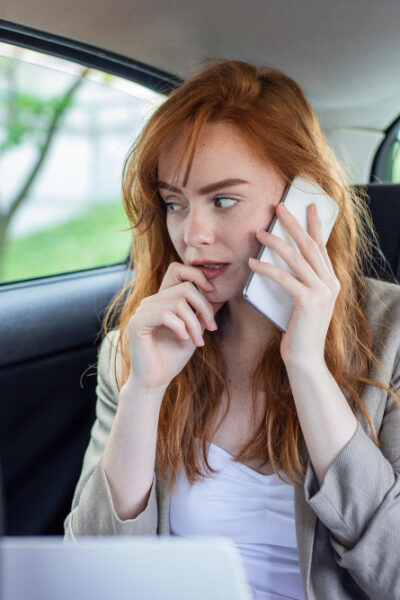
[(400, 112), (399, 0), (2, 0), (0, 18), (182, 79), (210, 57), (277, 67), (328, 131), (378, 133)]

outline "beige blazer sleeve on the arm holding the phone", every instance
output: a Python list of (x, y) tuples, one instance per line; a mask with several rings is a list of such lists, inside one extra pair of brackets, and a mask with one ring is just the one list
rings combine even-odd
[[(393, 381), (398, 390), (399, 360)], [(400, 460), (395, 460), (400, 407), (390, 394), (378, 439), (380, 448), (359, 423), (321, 487), (308, 462), (304, 490), (307, 503), (330, 530), (336, 562), (369, 597), (400, 600)]]

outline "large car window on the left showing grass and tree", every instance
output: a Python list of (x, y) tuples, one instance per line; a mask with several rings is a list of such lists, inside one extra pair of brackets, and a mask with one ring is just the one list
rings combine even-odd
[(0, 283), (126, 260), (123, 161), (164, 99), (0, 43)]

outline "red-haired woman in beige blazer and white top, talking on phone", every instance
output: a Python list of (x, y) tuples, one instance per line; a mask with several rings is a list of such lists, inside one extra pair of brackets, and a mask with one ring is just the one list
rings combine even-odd
[[(277, 209), (296, 175), (339, 205), (326, 248), (311, 205), (308, 231)], [(256, 599), (400, 598), (400, 286), (364, 277), (367, 204), (302, 90), (216, 60), (149, 119), (123, 189), (135, 278), (66, 537), (221, 534)], [(300, 254), (263, 233), (275, 213)], [(244, 300), (252, 271), (293, 296), (286, 333)]]

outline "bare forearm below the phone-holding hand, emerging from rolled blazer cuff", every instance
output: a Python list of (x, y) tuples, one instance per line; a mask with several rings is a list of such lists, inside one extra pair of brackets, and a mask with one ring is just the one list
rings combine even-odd
[(358, 421), (325, 363), (286, 366), (310, 459), (321, 486)]

